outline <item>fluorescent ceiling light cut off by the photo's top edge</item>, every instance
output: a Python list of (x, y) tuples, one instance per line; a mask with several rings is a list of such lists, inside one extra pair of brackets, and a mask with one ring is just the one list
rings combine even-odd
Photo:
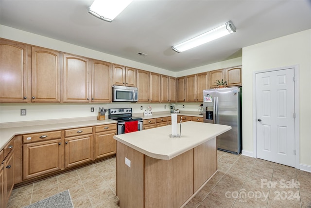
[(88, 13), (112, 22), (133, 0), (94, 0)]

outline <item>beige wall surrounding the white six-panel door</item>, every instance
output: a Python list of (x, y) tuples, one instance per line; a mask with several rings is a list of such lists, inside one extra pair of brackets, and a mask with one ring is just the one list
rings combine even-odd
[(254, 72), (293, 65), (299, 67), (300, 164), (311, 166), (311, 30), (243, 48), (243, 151), (253, 152)]

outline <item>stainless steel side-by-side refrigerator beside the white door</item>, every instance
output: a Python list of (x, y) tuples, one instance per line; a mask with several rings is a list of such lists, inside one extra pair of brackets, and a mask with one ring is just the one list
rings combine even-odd
[[(232, 129), (217, 136), (217, 148), (239, 154), (242, 149), (242, 88), (229, 87), (203, 91), (203, 117), (206, 123), (224, 124)], [(208, 132), (207, 132), (208, 133)]]

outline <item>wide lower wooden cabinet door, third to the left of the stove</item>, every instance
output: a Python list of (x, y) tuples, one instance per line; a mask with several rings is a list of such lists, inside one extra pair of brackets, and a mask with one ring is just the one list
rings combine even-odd
[(61, 139), (23, 145), (23, 179), (62, 170), (64, 146)]

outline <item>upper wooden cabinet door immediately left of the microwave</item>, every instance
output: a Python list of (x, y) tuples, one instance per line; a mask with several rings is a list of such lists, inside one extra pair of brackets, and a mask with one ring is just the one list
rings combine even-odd
[(111, 102), (111, 64), (93, 59), (91, 63), (91, 102)]

